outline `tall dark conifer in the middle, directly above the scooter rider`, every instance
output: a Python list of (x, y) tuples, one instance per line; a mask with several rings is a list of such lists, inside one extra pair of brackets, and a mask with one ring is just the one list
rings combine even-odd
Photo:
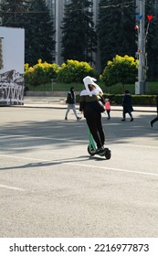
[(97, 47), (97, 36), (92, 21), (92, 2), (72, 0), (65, 5), (63, 18), (62, 57), (87, 61), (92, 64)]

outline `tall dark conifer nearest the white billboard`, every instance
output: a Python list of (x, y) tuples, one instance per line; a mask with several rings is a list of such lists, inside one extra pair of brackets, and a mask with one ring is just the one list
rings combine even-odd
[(53, 21), (44, 0), (34, 0), (26, 24), (26, 62), (52, 62), (55, 55)]

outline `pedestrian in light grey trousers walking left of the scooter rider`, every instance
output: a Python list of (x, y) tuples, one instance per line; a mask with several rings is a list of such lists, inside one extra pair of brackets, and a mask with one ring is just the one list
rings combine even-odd
[(68, 112), (70, 110), (73, 110), (76, 119), (79, 121), (81, 119), (81, 117), (78, 116), (77, 111), (76, 111), (76, 94), (75, 94), (75, 89), (74, 87), (70, 88), (70, 91), (68, 91), (68, 95), (67, 95), (67, 104), (68, 104), (68, 108), (67, 108), (67, 112), (65, 114), (65, 120), (68, 120)]

